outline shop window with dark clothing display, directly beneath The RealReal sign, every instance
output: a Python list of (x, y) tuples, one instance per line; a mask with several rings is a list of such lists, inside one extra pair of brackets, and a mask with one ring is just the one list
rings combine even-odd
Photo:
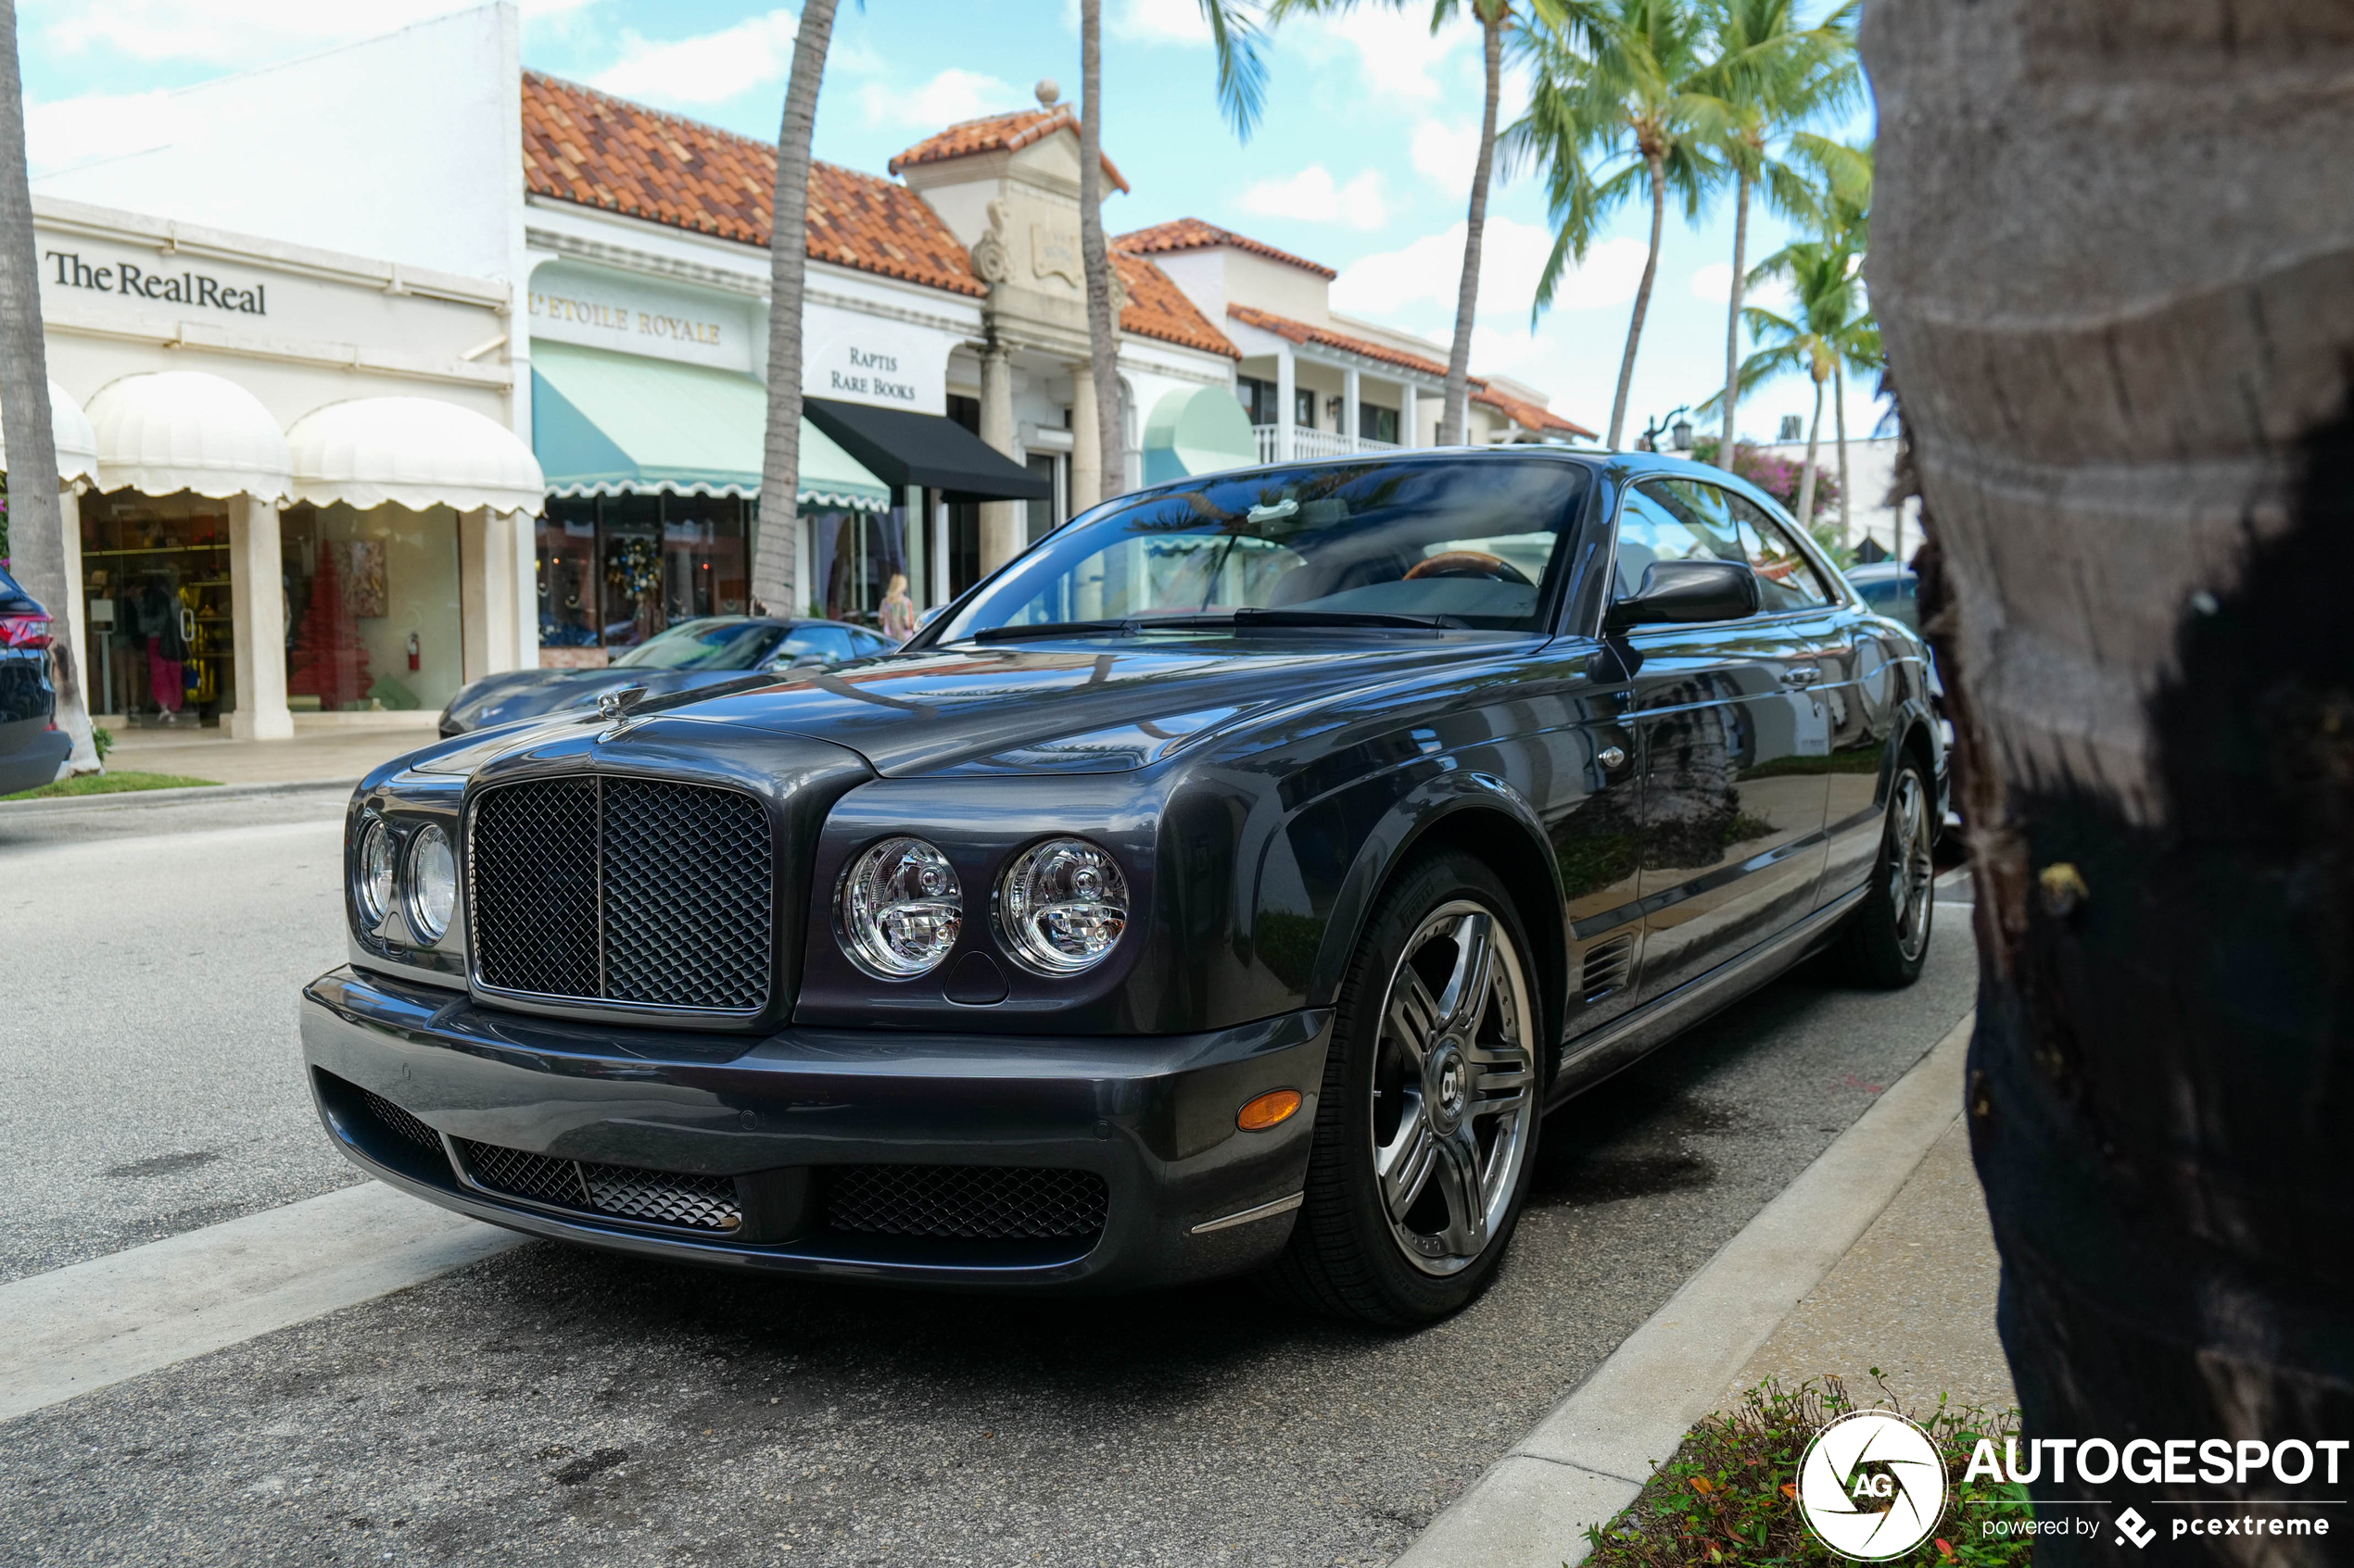
[(82, 496), (82, 611), (108, 715), (217, 724), (235, 708), (228, 562), (226, 501)]

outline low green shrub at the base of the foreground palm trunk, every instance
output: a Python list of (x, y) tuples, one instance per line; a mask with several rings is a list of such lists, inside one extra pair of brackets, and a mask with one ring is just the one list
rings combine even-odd
[[(1874, 1373), (1878, 1375), (1878, 1373)], [(1886, 1394), (1886, 1385), (1883, 1385)], [(1730, 1415), (1709, 1415), (1685, 1434), (1676, 1458), (1653, 1472), (1650, 1483), (1598, 1530), (1587, 1530), (1589, 1568), (1742, 1568), (1803, 1563), (1841, 1568), (1798, 1519), (1796, 1479), (1815, 1432), (1836, 1415), (1860, 1408), (1838, 1378), (1784, 1389), (1775, 1380), (1742, 1394)], [(1900, 1410), (1895, 1399), (1881, 1408)], [(2017, 1432), (2015, 1415), (1947, 1408), (1911, 1415), (1944, 1455), (1947, 1514), (1921, 1547), (1893, 1559), (1907, 1568), (2022, 1568), (2032, 1561), (2032, 1537), (1989, 1537), (1989, 1519), (2032, 1519), (2024, 1486), (1963, 1483), (1977, 1439), (1996, 1446)]]

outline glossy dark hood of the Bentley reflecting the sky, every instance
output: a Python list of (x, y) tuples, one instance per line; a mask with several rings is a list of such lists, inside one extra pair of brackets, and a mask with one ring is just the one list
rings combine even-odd
[(885, 776), (1109, 773), (1257, 712), (1492, 658), (1502, 646), (1478, 635), (960, 646), (777, 675), (664, 708), (833, 741)]

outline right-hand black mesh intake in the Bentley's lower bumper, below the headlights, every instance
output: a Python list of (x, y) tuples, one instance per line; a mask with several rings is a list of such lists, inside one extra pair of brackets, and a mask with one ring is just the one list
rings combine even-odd
[(826, 1225), (880, 1237), (1095, 1237), (1109, 1190), (1092, 1171), (833, 1166)]

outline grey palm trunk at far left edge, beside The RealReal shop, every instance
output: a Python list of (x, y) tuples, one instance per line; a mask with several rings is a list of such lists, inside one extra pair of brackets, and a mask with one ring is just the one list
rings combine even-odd
[[(40, 327), (40, 261), (33, 256), (33, 188), (24, 162), (24, 78), (16, 73), (16, 5), (0, 0), (0, 421), (7, 425), (7, 524), (12, 576), (49, 611), (49, 679), (56, 726), (73, 736), (75, 773), (97, 773), (89, 708), (73, 625), (82, 585), (66, 581), (66, 517), (56, 505), (56, 430), (49, 423), (49, 353)], [(264, 649), (266, 654), (266, 649)]]

